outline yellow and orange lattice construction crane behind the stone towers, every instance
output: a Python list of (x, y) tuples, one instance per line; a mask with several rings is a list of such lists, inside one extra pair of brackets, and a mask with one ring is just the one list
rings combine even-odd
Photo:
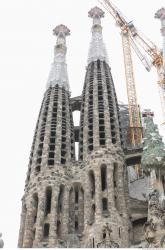
[(149, 39), (144, 37), (134, 26), (133, 22), (126, 20), (121, 11), (109, 0), (98, 0), (104, 8), (113, 16), (117, 26), (120, 27), (124, 65), (127, 85), (128, 108), (130, 115), (131, 140), (133, 145), (141, 142), (142, 131), (140, 114), (137, 103), (131, 47), (145, 66), (147, 71), (155, 66), (158, 73), (158, 86), (161, 97), (163, 119), (165, 121), (165, 72), (163, 68), (163, 56), (157, 46)]

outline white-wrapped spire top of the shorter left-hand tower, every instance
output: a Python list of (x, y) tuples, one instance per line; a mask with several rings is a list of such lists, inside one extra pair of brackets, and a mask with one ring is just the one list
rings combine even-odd
[(66, 36), (70, 35), (70, 30), (63, 24), (58, 25), (53, 34), (57, 36), (57, 41), (54, 49), (54, 62), (52, 63), (47, 88), (59, 85), (69, 90), (69, 81), (66, 64)]

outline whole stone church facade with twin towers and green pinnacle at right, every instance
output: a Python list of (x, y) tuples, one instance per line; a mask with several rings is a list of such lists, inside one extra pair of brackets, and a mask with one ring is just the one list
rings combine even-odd
[(70, 96), (70, 30), (54, 29), (54, 61), (30, 153), (18, 247), (165, 247), (164, 144), (151, 114), (144, 115), (143, 146), (127, 142), (128, 108), (117, 101), (102, 37), (104, 12), (95, 7), (88, 15), (92, 39), (80, 97)]

